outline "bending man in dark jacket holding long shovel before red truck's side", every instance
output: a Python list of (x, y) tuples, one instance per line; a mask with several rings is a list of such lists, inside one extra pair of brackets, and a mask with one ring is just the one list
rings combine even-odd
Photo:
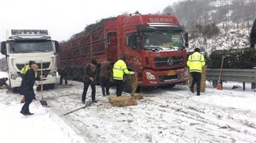
[(86, 64), (83, 69), (83, 82), (84, 82), (84, 91), (82, 95), (82, 102), (85, 103), (86, 100), (86, 93), (88, 90), (89, 85), (92, 88), (92, 102), (96, 102), (95, 100), (95, 77), (97, 73), (97, 61), (95, 59), (92, 59), (91, 63)]

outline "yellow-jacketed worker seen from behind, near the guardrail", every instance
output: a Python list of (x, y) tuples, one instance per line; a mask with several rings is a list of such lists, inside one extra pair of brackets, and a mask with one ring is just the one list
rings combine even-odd
[(194, 93), (196, 83), (196, 95), (200, 96), (201, 73), (202, 67), (205, 65), (204, 55), (200, 54), (200, 49), (196, 48), (194, 53), (188, 57), (187, 65), (193, 78), (190, 91)]

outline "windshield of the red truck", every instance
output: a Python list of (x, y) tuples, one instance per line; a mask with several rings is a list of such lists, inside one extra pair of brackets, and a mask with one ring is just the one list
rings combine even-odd
[(177, 50), (184, 47), (181, 33), (173, 31), (144, 31), (144, 50)]

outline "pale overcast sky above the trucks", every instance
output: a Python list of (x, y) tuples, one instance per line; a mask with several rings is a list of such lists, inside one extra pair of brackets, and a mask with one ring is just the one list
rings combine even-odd
[(0, 41), (6, 29), (47, 29), (54, 40), (67, 40), (95, 20), (125, 11), (156, 13), (178, 0), (1, 0)]

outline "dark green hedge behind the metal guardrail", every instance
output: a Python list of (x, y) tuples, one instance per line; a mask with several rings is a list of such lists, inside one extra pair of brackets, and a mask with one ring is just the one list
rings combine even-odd
[(223, 68), (252, 69), (256, 67), (256, 50), (253, 48), (216, 50), (211, 53), (208, 68), (220, 68), (222, 56), (225, 56)]

